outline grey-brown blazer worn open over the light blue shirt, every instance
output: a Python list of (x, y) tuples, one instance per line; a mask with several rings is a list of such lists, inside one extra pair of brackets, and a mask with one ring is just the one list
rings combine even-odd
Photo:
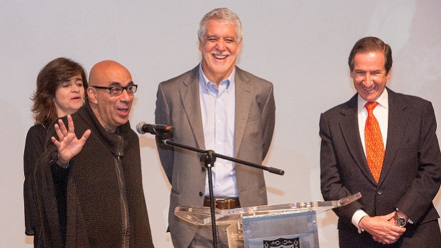
[[(199, 103), (199, 66), (158, 85), (155, 122), (173, 125), (172, 140), (205, 149)], [(262, 163), (274, 132), (276, 105), (272, 83), (236, 67), (234, 156)], [(169, 228), (174, 247), (187, 247), (196, 228), (174, 216), (177, 206), (203, 206), (205, 166), (200, 154), (158, 144), (161, 164), (172, 185)], [(263, 171), (236, 163), (241, 207), (267, 204)]]

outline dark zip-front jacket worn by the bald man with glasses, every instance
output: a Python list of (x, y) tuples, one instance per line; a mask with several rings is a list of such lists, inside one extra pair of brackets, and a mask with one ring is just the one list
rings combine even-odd
[[(62, 118), (67, 123), (67, 118)], [(141, 177), (139, 138), (125, 123), (114, 133), (99, 123), (88, 103), (72, 114), (75, 134), (92, 132), (70, 167), (57, 165), (48, 140), (35, 174), (43, 229), (39, 247), (153, 247)], [(53, 125), (52, 125), (53, 127)], [(50, 136), (56, 136), (54, 129)], [(67, 225), (59, 225), (57, 182), (68, 180)], [(54, 185), (56, 185), (54, 187)], [(63, 189), (61, 189), (63, 190)], [(54, 192), (55, 191), (55, 192)], [(65, 228), (65, 230), (64, 230)]]

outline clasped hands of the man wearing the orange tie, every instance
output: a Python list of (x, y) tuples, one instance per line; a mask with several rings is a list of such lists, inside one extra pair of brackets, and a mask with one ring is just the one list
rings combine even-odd
[(404, 227), (398, 227), (395, 225), (395, 222), (393, 221), (394, 214), (395, 211), (385, 216), (365, 216), (360, 220), (358, 225), (360, 228), (369, 232), (369, 234), (372, 235), (373, 240), (376, 240), (383, 245), (392, 244), (400, 238), (404, 231), (406, 231)]

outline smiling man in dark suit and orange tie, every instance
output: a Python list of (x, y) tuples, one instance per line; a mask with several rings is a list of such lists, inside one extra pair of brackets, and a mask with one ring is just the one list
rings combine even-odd
[(376, 37), (353, 46), (349, 68), (358, 93), (320, 116), (323, 198), (362, 194), (334, 210), (340, 247), (441, 247), (432, 104), (386, 87), (392, 52)]

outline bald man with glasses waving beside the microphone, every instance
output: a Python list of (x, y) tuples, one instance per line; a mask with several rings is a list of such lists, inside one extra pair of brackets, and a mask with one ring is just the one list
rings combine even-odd
[[(153, 247), (139, 138), (128, 120), (137, 85), (115, 61), (94, 65), (89, 82), (87, 103), (52, 125), (37, 166), (39, 247)], [(54, 187), (63, 180), (67, 188)], [(63, 226), (54, 191), (66, 194)]]

